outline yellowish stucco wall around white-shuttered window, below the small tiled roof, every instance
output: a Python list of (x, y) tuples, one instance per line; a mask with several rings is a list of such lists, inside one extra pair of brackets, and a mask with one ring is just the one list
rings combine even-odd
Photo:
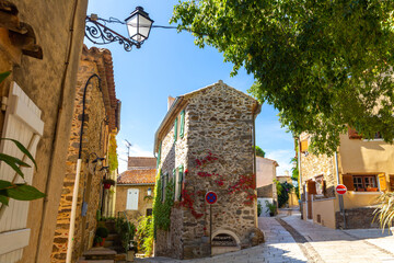
[[(127, 204), (127, 191), (129, 188), (138, 188), (138, 210), (126, 210)], [(152, 208), (152, 198), (144, 198), (148, 194), (148, 188), (151, 188), (152, 196), (154, 185), (116, 185), (116, 203), (115, 203), (115, 215), (118, 215), (118, 211), (126, 211), (127, 218), (135, 224), (138, 225), (138, 218), (147, 215), (147, 209)]]

